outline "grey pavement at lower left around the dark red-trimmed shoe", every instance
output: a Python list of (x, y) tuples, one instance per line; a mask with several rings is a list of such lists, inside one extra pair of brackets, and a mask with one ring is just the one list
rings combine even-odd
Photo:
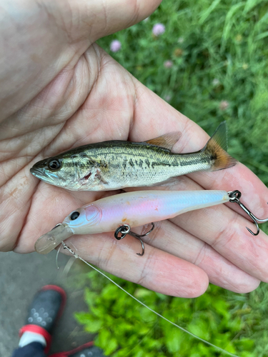
[(38, 253), (0, 253), (0, 356), (11, 356), (18, 346), (18, 331), (24, 325), (26, 311), (36, 291), (46, 284), (57, 284), (67, 293), (63, 315), (54, 331), (51, 351), (69, 351), (82, 343), (91, 341), (74, 319), (75, 311), (86, 311), (83, 283), (89, 271), (80, 261), (59, 254), (56, 268), (56, 252), (46, 256)]

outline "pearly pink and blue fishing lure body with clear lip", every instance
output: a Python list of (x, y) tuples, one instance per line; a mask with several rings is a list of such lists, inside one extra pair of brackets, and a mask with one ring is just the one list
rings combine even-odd
[(143, 226), (228, 201), (228, 193), (217, 190), (119, 193), (72, 211), (63, 223), (36, 241), (35, 249), (46, 254), (74, 234), (111, 232), (124, 224)]

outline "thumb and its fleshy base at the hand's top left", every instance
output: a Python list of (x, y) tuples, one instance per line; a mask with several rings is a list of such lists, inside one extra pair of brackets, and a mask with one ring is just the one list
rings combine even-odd
[(145, 19), (160, 2), (29, 0), (9, 6), (1, 1), (5, 36), (0, 43), (0, 121), (33, 99), (62, 69), (73, 68), (96, 39)]

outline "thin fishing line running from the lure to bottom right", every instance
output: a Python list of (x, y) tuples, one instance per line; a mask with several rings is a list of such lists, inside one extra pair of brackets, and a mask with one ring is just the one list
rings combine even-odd
[(129, 295), (131, 298), (134, 298), (135, 301), (137, 301), (138, 303), (140, 303), (142, 306), (144, 306), (145, 308), (148, 308), (149, 311), (151, 311), (152, 313), (155, 313), (157, 316), (159, 316), (160, 318), (163, 318), (163, 320), (171, 323), (173, 326), (179, 328), (179, 330), (184, 331), (185, 333), (188, 333), (190, 336), (197, 338), (197, 340), (202, 341), (203, 343), (206, 343), (208, 346), (211, 346), (213, 348), (215, 348), (217, 351), (222, 352), (228, 356), (233, 356), (233, 357), (239, 357), (237, 355), (234, 355), (234, 353), (228, 352), (226, 350), (224, 350), (223, 348), (220, 348), (216, 345), (214, 345), (213, 343), (210, 343), (209, 341), (204, 340), (203, 338), (194, 335), (194, 333), (187, 331), (185, 328), (183, 328), (182, 326), (177, 325), (177, 323), (174, 323), (172, 321), (170, 321), (168, 318), (165, 318), (164, 316), (162, 316), (160, 313), (158, 313), (157, 311), (154, 311), (152, 308), (149, 308), (149, 306), (147, 306), (145, 303), (142, 303), (142, 301), (139, 301), (139, 299), (135, 298), (135, 296), (131, 295), (131, 293), (129, 293), (128, 291), (124, 290), (124, 288), (122, 288), (118, 283), (116, 283), (115, 281), (113, 281), (111, 278), (109, 278), (109, 276), (106, 276), (106, 274), (102, 273), (102, 271), (99, 271), (99, 269), (95, 268), (94, 266), (91, 266), (90, 263), (88, 263), (87, 261), (85, 261), (83, 258), (81, 258), (79, 255), (77, 255), (71, 248), (69, 248), (69, 246), (66, 246), (66, 244), (62, 241), (61, 242), (62, 246), (64, 246), (64, 249), (67, 249), (73, 256), (74, 258), (79, 258), (81, 261), (83, 261), (84, 263), (86, 263), (86, 265), (90, 266), (90, 268), (94, 269), (94, 271), (97, 271), (98, 273), (100, 273), (102, 276), (104, 276), (106, 279), (108, 279), (109, 281), (111, 281), (111, 283), (113, 283), (115, 286), (117, 286), (117, 288), (121, 289), (121, 291), (124, 291), (124, 293), (126, 293), (127, 295)]

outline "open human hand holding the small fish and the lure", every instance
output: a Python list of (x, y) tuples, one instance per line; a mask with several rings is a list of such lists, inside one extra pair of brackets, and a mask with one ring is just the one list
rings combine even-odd
[[(7, 16), (0, 25), (6, 34), (0, 46), (0, 248), (29, 253), (73, 209), (116, 193), (49, 186), (29, 173), (36, 161), (84, 144), (144, 141), (170, 131), (182, 132), (174, 151), (185, 153), (201, 149), (208, 136), (94, 44), (149, 16), (159, 0), (114, 0), (104, 7), (100, 1), (28, 0), (24, 9), (19, 3), (6, 9), (14, 22)], [(254, 214), (267, 216), (267, 188), (242, 164), (159, 188), (238, 189)], [(267, 236), (253, 237), (245, 226), (254, 230), (241, 208), (228, 204), (156, 223), (142, 258), (137, 240), (116, 241), (113, 233), (69, 242), (87, 261), (161, 293), (199, 296), (208, 280), (244, 293), (268, 281)]]

